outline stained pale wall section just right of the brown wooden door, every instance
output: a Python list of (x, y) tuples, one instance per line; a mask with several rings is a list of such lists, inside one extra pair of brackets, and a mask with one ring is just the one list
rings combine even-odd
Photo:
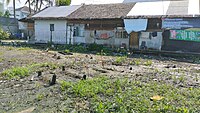
[(153, 37), (152, 32), (141, 32), (139, 37), (139, 47), (142, 41), (146, 42), (148, 49), (161, 50), (162, 46), (162, 32), (157, 32), (157, 36)]

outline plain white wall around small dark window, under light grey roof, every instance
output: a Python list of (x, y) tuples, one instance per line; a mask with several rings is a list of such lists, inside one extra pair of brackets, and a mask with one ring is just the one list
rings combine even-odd
[(47, 43), (50, 41), (50, 24), (54, 24), (52, 41), (57, 44), (66, 43), (65, 20), (35, 20), (35, 40), (37, 43)]

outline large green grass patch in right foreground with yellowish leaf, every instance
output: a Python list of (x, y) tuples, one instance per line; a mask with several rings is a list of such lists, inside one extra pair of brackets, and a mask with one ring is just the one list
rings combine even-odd
[[(198, 88), (178, 88), (165, 83), (96, 77), (76, 83), (62, 81), (61, 89), (69, 98), (88, 101), (89, 109), (82, 108), (86, 112), (195, 113), (200, 110)], [(162, 98), (151, 100), (155, 95)]]

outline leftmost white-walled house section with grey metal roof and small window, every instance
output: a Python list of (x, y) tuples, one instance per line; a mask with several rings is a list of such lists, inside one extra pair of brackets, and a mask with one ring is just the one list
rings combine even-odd
[(48, 7), (33, 15), (35, 43), (66, 44), (67, 37), (72, 36), (72, 31), (67, 30), (69, 27), (66, 17), (80, 7), (80, 5)]

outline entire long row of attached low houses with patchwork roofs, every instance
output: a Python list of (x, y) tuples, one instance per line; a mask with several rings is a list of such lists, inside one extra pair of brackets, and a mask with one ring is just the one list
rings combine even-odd
[(32, 17), (35, 40), (200, 52), (199, 4), (199, 0), (155, 0), (50, 7)]

